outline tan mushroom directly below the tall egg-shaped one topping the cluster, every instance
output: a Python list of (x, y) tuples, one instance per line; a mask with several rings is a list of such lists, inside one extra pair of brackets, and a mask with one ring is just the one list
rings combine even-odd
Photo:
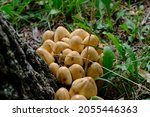
[(66, 48), (69, 48), (67, 43), (58, 41), (54, 46), (54, 54), (60, 54)]

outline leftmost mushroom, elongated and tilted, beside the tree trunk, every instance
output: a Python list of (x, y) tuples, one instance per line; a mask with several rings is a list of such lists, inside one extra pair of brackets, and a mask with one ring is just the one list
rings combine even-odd
[(55, 61), (54, 57), (44, 48), (38, 48), (36, 53), (49, 65)]

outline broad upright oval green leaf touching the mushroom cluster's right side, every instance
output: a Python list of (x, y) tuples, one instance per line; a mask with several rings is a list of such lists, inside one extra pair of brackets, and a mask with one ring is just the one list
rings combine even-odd
[[(115, 60), (115, 54), (108, 46), (104, 47), (103, 66), (107, 69), (111, 69)], [(107, 72), (107, 70), (105, 70)]]

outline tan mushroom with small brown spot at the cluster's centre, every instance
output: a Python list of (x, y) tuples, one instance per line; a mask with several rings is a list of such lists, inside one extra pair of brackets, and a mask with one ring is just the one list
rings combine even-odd
[(64, 64), (65, 65), (79, 64), (82, 66), (83, 60), (81, 58), (81, 55), (77, 51), (72, 51), (65, 57)]

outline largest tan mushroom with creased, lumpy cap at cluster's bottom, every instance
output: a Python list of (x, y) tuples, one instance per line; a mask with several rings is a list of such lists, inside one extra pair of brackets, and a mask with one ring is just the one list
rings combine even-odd
[(91, 77), (77, 79), (72, 83), (69, 94), (71, 97), (75, 94), (80, 94), (90, 99), (90, 97), (97, 95), (95, 81)]

